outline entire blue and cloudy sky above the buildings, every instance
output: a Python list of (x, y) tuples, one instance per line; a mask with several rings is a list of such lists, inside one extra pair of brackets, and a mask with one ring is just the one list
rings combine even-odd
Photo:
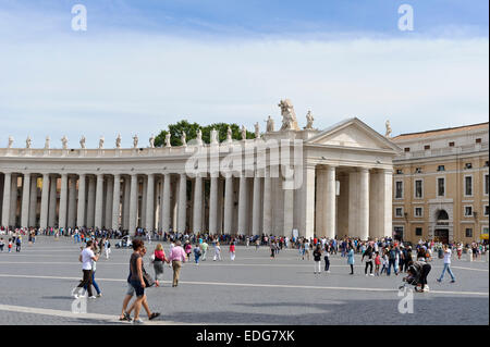
[[(72, 28), (72, 8), (87, 30)], [(400, 30), (402, 4), (414, 29)], [(487, 0), (0, 0), (0, 147), (131, 147), (180, 120), (357, 116), (392, 135), (488, 121)]]

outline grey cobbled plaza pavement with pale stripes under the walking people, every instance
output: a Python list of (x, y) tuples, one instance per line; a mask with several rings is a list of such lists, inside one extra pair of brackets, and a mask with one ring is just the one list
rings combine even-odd
[[(3, 235), (4, 237), (4, 235)], [(37, 237), (22, 252), (0, 253), (0, 324), (130, 324), (118, 317), (126, 289), (131, 250), (113, 247), (109, 260), (97, 263), (96, 281), (102, 297), (88, 300), (87, 313), (71, 312), (72, 288), (82, 277), (79, 244), (71, 238)], [(145, 267), (154, 273), (147, 245)], [(269, 249), (236, 247), (231, 261), (228, 246), (223, 261), (184, 264), (180, 285), (172, 288), (166, 265), (163, 283), (147, 290), (154, 311), (162, 315), (147, 324), (488, 324), (489, 267), (485, 261), (453, 261), (456, 283), (446, 274), (436, 282), (442, 261), (432, 261), (428, 281), (431, 293), (414, 294), (414, 313), (399, 312), (397, 287), (402, 276), (364, 275), (356, 256), (355, 275), (346, 259), (331, 257), (331, 273), (314, 274), (314, 262), (302, 261), (297, 250), (282, 250), (271, 260)], [(169, 253), (169, 244), (164, 244)], [(323, 267), (323, 262), (322, 262)]]

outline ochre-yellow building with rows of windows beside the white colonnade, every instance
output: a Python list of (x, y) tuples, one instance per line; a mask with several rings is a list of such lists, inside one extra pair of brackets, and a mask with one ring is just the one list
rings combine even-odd
[(405, 240), (488, 240), (489, 123), (392, 138), (393, 235)]

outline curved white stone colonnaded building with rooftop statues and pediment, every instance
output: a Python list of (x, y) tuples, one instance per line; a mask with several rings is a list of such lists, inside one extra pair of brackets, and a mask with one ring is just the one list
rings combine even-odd
[(136, 227), (210, 234), (391, 235), (400, 148), (358, 119), (181, 147), (0, 149), (0, 221), (10, 227)]

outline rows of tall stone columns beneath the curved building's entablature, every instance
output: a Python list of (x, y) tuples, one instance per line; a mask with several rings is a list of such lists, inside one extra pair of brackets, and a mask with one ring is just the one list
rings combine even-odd
[[(390, 170), (306, 165), (297, 189), (252, 177), (175, 173), (1, 172), (1, 225), (210, 234), (391, 235)], [(82, 203), (82, 202), (83, 203)]]

